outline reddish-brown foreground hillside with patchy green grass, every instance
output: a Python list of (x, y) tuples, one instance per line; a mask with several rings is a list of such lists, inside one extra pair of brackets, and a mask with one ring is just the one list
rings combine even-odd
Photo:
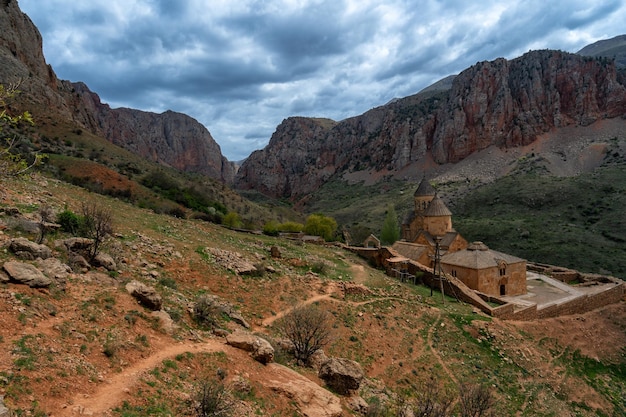
[[(299, 245), (175, 219), (54, 181), (5, 186), (10, 192), (4, 204), (27, 213), (43, 204), (44, 190), (45, 203), (56, 210), (65, 204), (77, 207), (81, 201), (109, 207), (119, 235), (106, 250), (118, 261), (125, 259), (119, 275), (112, 274), (115, 280), (110, 286), (82, 273), (71, 276), (65, 291), (0, 286), (4, 300), (0, 303), (4, 323), (0, 343), (5, 346), (0, 362), (6, 364), (0, 370), (0, 392), (7, 404), (22, 413), (30, 410), (32, 415), (44, 415), (58, 410), (55, 407), (67, 405), (75, 391), (93, 392), (106, 386), (99, 376), (105, 375), (106, 380), (110, 378), (106, 375), (121, 372), (161, 346), (214, 338), (186, 313), (188, 302), (200, 294), (209, 292), (229, 300), (258, 326), (262, 319), (319, 295), (321, 289), (329, 290), (337, 281), (357, 278), (373, 293), (319, 302), (333, 317), (333, 342), (326, 351), (363, 365), (378, 382), (365, 384), (360, 394), (370, 403), (392, 398), (388, 415), (397, 412), (394, 398), (415, 399), (422, 392), (420, 387), (433, 380), (453, 391), (458, 382), (487, 384), (497, 399), (498, 415), (520, 410), (523, 416), (564, 415), (564, 410), (580, 416), (624, 412), (620, 403), (626, 389), (624, 357), (619, 352), (601, 355), (601, 361), (591, 360), (576, 345), (541, 333), (544, 324), (539, 323), (534, 328), (539, 335), (533, 335), (475, 314), (470, 306), (452, 299), (442, 304), (440, 297), (429, 296), (428, 289), (399, 284), (339, 248)], [(6, 217), (0, 220), (10, 223)], [(9, 228), (3, 237), (19, 234), (23, 232)], [(282, 258), (267, 257), (271, 246), (280, 247)], [(239, 277), (217, 264), (207, 248), (238, 252), (277, 272), (260, 278)], [(10, 253), (0, 253), (0, 261), (11, 258)], [(158, 272), (156, 280), (146, 274), (146, 263)], [(320, 263), (326, 265), (323, 272), (312, 275), (311, 269)], [(363, 272), (356, 275), (354, 265)], [(155, 286), (163, 296), (165, 310), (179, 326), (173, 335), (165, 334), (149, 311), (128, 296), (124, 284), (132, 279)], [(591, 322), (591, 316), (587, 317)], [(623, 333), (620, 317), (624, 314), (615, 316), (613, 326), (622, 326)], [(579, 322), (572, 323), (574, 333), (589, 331)], [(232, 327), (233, 323), (223, 325)], [(261, 331), (276, 335), (272, 327)], [(621, 339), (615, 345), (621, 345)], [(257, 414), (293, 415), (292, 403), (264, 388), (262, 367), (260, 378), (255, 379), (257, 371), (246, 376), (253, 365), (224, 354), (178, 355), (147, 370), (137, 385), (128, 388), (126, 404), (113, 415), (185, 415), (190, 410), (186, 393), (193, 393), (198, 381), (213, 378), (217, 368), (226, 369), (229, 377), (249, 378), (252, 391), (238, 393), (237, 398)], [(315, 380), (310, 370), (297, 369)], [(376, 388), (381, 383), (382, 391)]]

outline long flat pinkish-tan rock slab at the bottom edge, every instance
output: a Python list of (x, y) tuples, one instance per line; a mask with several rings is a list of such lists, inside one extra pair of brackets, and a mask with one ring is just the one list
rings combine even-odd
[(293, 401), (306, 417), (342, 415), (341, 402), (337, 396), (283, 365), (268, 364), (264, 384)]

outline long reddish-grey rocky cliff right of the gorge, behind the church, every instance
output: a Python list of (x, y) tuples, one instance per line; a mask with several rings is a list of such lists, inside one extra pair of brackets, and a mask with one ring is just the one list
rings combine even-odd
[(244, 162), (235, 185), (297, 200), (335, 175), (455, 163), (492, 145), (526, 145), (554, 128), (624, 115), (626, 87), (612, 61), (533, 51), (477, 63), (449, 90), (426, 90), (336, 124), (287, 119)]

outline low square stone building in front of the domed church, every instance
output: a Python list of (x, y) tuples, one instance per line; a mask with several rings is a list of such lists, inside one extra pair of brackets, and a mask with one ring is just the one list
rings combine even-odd
[(491, 250), (482, 242), (441, 258), (444, 273), (469, 288), (493, 296), (526, 294), (526, 261)]

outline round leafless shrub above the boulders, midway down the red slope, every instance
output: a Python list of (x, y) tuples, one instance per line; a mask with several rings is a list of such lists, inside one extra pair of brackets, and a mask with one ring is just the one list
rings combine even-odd
[(314, 305), (294, 308), (279, 321), (278, 327), (293, 343), (296, 360), (303, 364), (308, 364), (313, 353), (330, 341), (329, 315)]

